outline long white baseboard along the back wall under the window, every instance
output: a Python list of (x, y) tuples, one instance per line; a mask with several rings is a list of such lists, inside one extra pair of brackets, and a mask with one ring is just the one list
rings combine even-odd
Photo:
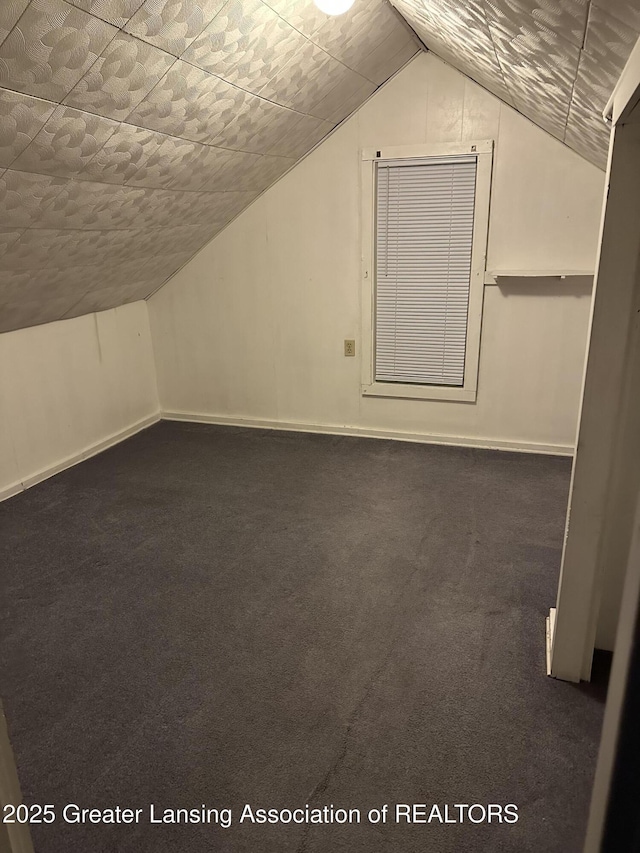
[(166, 421), (218, 424), (219, 426), (277, 429), (287, 432), (313, 432), (325, 435), (352, 435), (362, 438), (383, 438), (392, 441), (411, 441), (419, 444), (443, 444), (453, 447), (478, 447), (485, 450), (509, 450), (517, 453), (542, 453), (549, 456), (573, 456), (574, 448), (564, 444), (537, 444), (508, 439), (466, 438), (455, 435), (395, 432), (364, 427), (337, 426), (335, 424), (295, 423), (293, 421), (262, 421), (253, 418), (229, 418), (199, 412), (162, 412)]

